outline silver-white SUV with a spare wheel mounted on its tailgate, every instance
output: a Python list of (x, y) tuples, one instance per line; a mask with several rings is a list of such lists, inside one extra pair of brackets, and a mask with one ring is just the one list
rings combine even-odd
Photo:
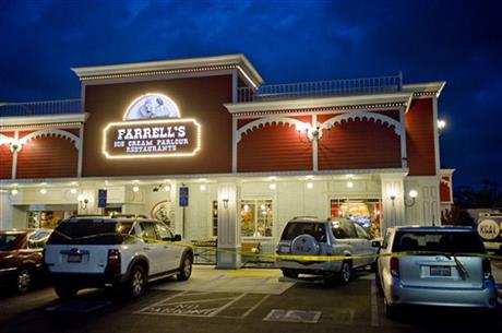
[[(295, 217), (284, 227), (277, 254), (342, 255), (336, 261), (278, 260), (284, 276), (298, 277), (300, 273), (322, 275), (326, 283), (334, 278), (348, 283), (351, 271), (375, 262), (376, 248), (371, 237), (356, 222), (347, 218), (319, 219)], [(352, 258), (352, 255), (366, 255)]]

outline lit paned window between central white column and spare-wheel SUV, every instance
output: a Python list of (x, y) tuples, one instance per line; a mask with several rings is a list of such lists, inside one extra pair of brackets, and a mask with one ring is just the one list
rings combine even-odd
[(240, 230), (242, 237), (272, 237), (272, 200), (242, 200)]

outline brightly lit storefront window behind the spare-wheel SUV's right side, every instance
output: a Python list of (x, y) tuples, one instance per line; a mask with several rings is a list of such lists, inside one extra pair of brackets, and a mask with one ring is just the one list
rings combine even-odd
[(372, 237), (381, 237), (381, 207), (379, 199), (332, 199), (331, 216), (354, 219)]

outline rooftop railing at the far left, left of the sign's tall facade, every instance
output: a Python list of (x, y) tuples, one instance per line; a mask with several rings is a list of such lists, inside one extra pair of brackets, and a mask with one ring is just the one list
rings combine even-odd
[(0, 103), (0, 117), (43, 116), (82, 112), (81, 99)]

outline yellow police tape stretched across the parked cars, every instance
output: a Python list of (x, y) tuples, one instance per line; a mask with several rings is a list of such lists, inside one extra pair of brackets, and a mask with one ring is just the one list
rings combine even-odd
[(104, 236), (113, 236), (121, 235), (122, 237), (134, 239), (134, 240), (142, 240), (146, 243), (165, 243), (176, 247), (183, 247), (183, 248), (191, 248), (193, 250), (200, 251), (211, 251), (216, 253), (225, 253), (230, 255), (241, 255), (241, 257), (251, 257), (256, 259), (271, 259), (275, 261), (299, 261), (299, 262), (322, 262), (322, 261), (344, 261), (344, 260), (364, 260), (364, 259), (378, 259), (378, 258), (401, 258), (405, 255), (443, 255), (446, 258), (453, 258), (457, 266), (462, 266), (457, 257), (478, 257), (478, 258), (487, 258), (487, 259), (495, 259), (502, 260), (502, 255), (499, 254), (490, 254), (490, 253), (479, 253), (479, 252), (447, 252), (447, 251), (397, 251), (397, 252), (390, 252), (390, 253), (371, 253), (371, 254), (265, 254), (265, 253), (256, 253), (253, 251), (239, 251), (239, 250), (229, 250), (219, 248), (217, 246), (195, 246), (192, 243), (186, 243), (182, 241), (169, 241), (169, 240), (160, 240), (157, 238), (145, 238), (140, 237), (136, 235), (131, 234), (117, 234), (117, 233), (103, 233), (98, 235), (87, 235), (81, 237), (70, 237), (64, 235), (59, 230), (53, 230), (53, 233), (58, 234), (59, 236), (65, 238), (67, 240), (84, 240), (84, 239), (92, 239), (97, 237)]

